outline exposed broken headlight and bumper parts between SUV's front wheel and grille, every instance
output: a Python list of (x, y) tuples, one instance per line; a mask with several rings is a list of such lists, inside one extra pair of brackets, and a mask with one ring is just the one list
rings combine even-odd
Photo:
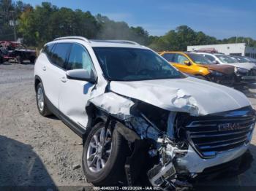
[[(161, 190), (191, 187), (187, 179), (192, 178), (186, 167), (178, 167), (178, 157), (187, 155), (189, 143), (182, 128), (176, 130), (176, 112), (137, 101), (131, 109), (132, 117), (126, 126), (135, 130), (148, 143), (148, 157), (157, 160), (148, 165), (148, 181)], [(177, 168), (178, 167), (178, 168)], [(182, 177), (178, 174), (183, 174)], [(186, 179), (184, 179), (184, 174)], [(181, 179), (180, 179), (181, 178)]]

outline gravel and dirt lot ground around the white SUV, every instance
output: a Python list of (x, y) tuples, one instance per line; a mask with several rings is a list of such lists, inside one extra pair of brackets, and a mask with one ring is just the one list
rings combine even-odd
[[(80, 190), (89, 185), (80, 167), (81, 139), (56, 117), (39, 115), (33, 69), (31, 64), (0, 65), (0, 186)], [(256, 86), (243, 91), (256, 109)], [(254, 135), (250, 150), (256, 159), (255, 144)], [(256, 161), (236, 178), (204, 183), (256, 186)]]

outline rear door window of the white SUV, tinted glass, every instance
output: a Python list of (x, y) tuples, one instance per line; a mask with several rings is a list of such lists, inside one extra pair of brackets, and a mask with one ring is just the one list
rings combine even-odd
[(53, 55), (50, 59), (51, 62), (61, 69), (66, 69), (67, 56), (69, 55), (70, 47), (70, 43), (57, 43), (53, 48)]

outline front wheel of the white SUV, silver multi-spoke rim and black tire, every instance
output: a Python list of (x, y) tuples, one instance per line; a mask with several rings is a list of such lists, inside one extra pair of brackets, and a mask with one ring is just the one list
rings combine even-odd
[[(83, 147), (83, 171), (86, 179), (92, 184), (112, 186), (118, 181), (125, 180), (124, 164), (128, 154), (127, 141), (116, 128), (108, 128), (105, 137), (102, 134), (105, 134), (105, 122), (94, 125), (86, 138)], [(106, 141), (102, 147), (104, 139)], [(104, 161), (101, 161), (102, 159)]]

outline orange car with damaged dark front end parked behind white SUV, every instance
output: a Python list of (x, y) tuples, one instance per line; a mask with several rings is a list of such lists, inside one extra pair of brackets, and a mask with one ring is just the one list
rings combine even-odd
[(232, 85), (234, 82), (234, 66), (217, 65), (207, 58), (194, 52), (159, 52), (169, 63), (178, 70), (193, 76), (217, 82), (223, 85)]

